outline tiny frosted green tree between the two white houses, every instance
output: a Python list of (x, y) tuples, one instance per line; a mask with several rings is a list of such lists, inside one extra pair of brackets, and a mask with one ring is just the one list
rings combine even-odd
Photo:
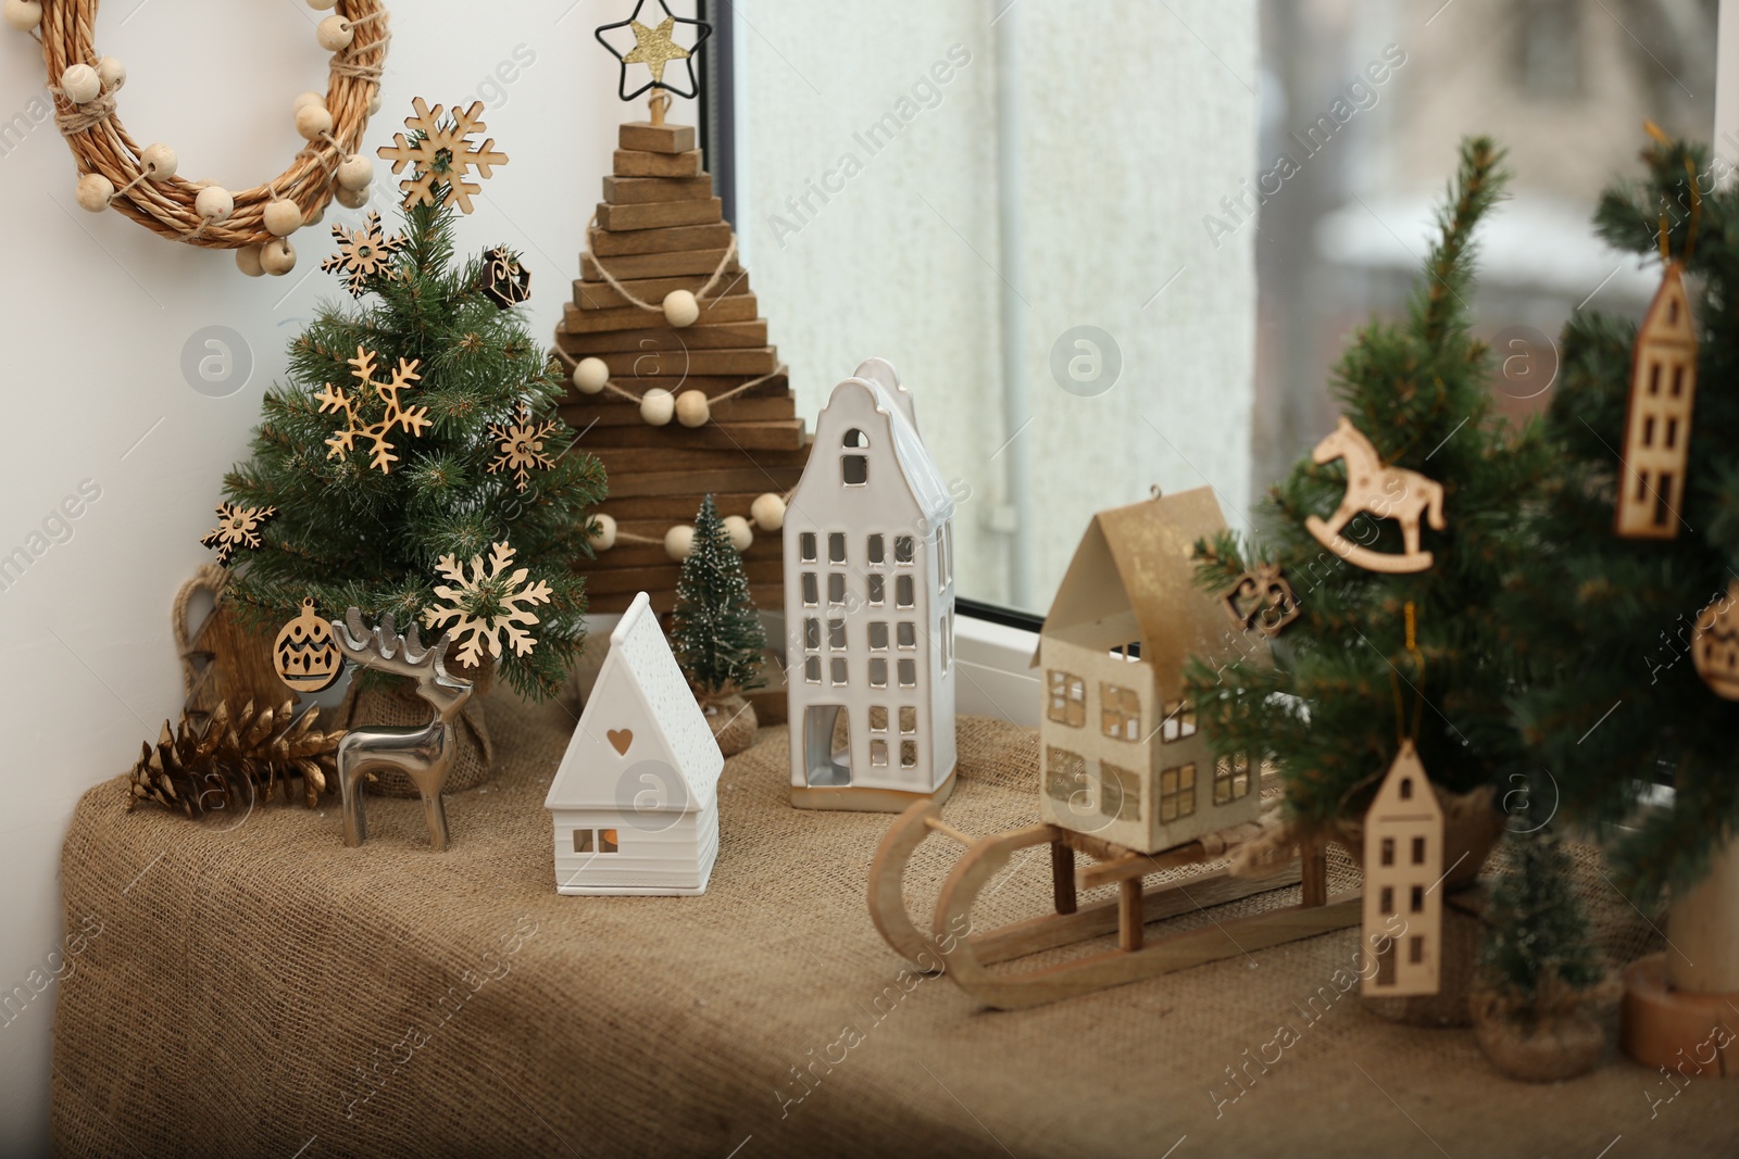
[(711, 495), (694, 516), (694, 547), (682, 561), (670, 626), (676, 662), (703, 699), (762, 686), (767, 632)]

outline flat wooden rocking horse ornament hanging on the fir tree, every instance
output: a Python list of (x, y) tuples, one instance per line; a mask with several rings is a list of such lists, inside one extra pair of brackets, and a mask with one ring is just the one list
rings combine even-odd
[[(1384, 466), (1377, 448), (1346, 415), (1311, 452), (1311, 462), (1336, 459), (1346, 460), (1346, 497), (1327, 521), (1316, 516), (1304, 520), (1306, 530), (1323, 547), (1367, 572), (1407, 573), (1429, 568), (1431, 553), (1419, 551), (1419, 518), (1424, 516), (1436, 532), (1449, 527), (1443, 520), (1443, 485), (1417, 471)], [(1362, 513), (1400, 523), (1407, 551), (1395, 556), (1343, 537), (1341, 528)]]

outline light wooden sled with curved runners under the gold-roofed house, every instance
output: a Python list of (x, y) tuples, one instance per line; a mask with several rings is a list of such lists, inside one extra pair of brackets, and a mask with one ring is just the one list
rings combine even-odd
[[(906, 912), (901, 888), (913, 851), (932, 832), (965, 846), (965, 855), (943, 883), (930, 933), (922, 933)], [(972, 926), (972, 904), (984, 884), (1014, 853), (1047, 843), (1056, 912), (977, 931)], [(1231, 878), (1226, 869), (1217, 869), (1183, 881), (1165, 881), (1153, 890), (1144, 888), (1143, 878), (1148, 874), (1221, 860), (1235, 848), (1236, 844), (1219, 843), (1210, 848), (1195, 841), (1148, 855), (1059, 825), (1028, 825), (974, 839), (944, 822), (939, 805), (920, 801), (899, 815), (870, 865), (870, 917), (887, 944), (913, 966), (927, 973), (946, 973), (967, 994), (996, 1010), (1021, 1010), (1092, 994), (1360, 923), (1360, 891), (1327, 897), (1327, 855), (1320, 850), (1306, 855), (1303, 865), (1294, 862), (1289, 869), (1259, 879)], [(1094, 864), (1076, 869), (1076, 853), (1087, 853)], [(1078, 890), (1111, 883), (1118, 886), (1115, 898), (1076, 907)], [(1303, 883), (1304, 895), (1299, 905), (1216, 921), (1151, 942), (1144, 937), (1146, 923), (1297, 883)], [(1024, 973), (988, 970), (1108, 933), (1118, 935), (1118, 947), (1104, 954)]]

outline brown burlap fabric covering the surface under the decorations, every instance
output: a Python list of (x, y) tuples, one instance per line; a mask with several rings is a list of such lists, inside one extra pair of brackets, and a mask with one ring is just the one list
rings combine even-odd
[[(1457, 1157), (1591, 1157), (1619, 1135), (1614, 1156), (1739, 1150), (1730, 1083), (1671, 1088), (1609, 1048), (1586, 1077), (1527, 1086), (1469, 1030), (1376, 1018), (1332, 983), (1356, 930), (976, 1010), (903, 971), (870, 924), (889, 817), (791, 810), (779, 730), (725, 768), (704, 897), (560, 897), (543, 796), (574, 721), (506, 697), (487, 709), (499, 778), (449, 799), (445, 855), (414, 801), (372, 801), (370, 841), (346, 850), (336, 808), (224, 831), (122, 811), (122, 778), (85, 794), (66, 914), (101, 933), (61, 983), (61, 1154), (1297, 1159), (1435, 1140)], [(1033, 820), (1031, 733), (967, 719), (960, 752), (953, 824)], [(946, 846), (920, 848), (915, 902), (956, 858)], [(1579, 869), (1602, 942), (1645, 949), (1588, 851)], [(977, 917), (1049, 897), (1038, 848)]]

